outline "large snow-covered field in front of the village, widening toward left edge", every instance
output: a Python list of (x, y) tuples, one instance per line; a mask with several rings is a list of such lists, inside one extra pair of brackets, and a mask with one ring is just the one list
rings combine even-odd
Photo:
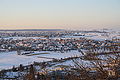
[(26, 55), (17, 55), (16, 51), (0, 53), (0, 70), (12, 68), (13, 66), (19, 66), (20, 64), (23, 64), (23, 65), (31, 64), (34, 61), (43, 62), (43, 61), (51, 60), (51, 59), (38, 58), (38, 57), (60, 59), (60, 58), (67, 58), (67, 57), (72, 57), (76, 55), (78, 56), (81, 55), (80, 52), (78, 51), (70, 51), (65, 53), (51, 52), (51, 51), (40, 51), (40, 52), (37, 51), (35, 53), (49, 53), (49, 54), (26, 56)]

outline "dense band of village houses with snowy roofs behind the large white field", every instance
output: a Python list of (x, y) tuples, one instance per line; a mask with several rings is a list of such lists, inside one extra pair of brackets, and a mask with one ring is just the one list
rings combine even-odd
[[(35, 32), (34, 32), (35, 33)], [(119, 38), (112, 38), (112, 40), (94, 40), (85, 37), (85, 33), (76, 34), (77, 31), (73, 33), (70, 32), (41, 32), (45, 33), (40, 36), (34, 35), (33, 32), (29, 32), (21, 37), (11, 37), (0, 39), (0, 51), (70, 51), (85, 49), (89, 51), (119, 51)], [(54, 35), (53, 35), (54, 33)], [(56, 34), (55, 34), (56, 33)], [(12, 33), (12, 34), (16, 34)], [(48, 35), (49, 34), (49, 35)], [(3, 34), (1, 34), (3, 35)], [(11, 35), (9, 33), (9, 35)], [(26, 37), (25, 37), (26, 35)], [(52, 35), (52, 36), (51, 36)], [(74, 37), (70, 37), (70, 36)], [(27, 37), (28, 36), (28, 37)], [(66, 36), (69, 36), (66, 37)]]

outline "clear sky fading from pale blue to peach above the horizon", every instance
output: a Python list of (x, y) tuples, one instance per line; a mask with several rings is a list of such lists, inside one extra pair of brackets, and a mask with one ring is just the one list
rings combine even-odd
[(0, 0), (0, 29), (120, 29), (120, 0)]

